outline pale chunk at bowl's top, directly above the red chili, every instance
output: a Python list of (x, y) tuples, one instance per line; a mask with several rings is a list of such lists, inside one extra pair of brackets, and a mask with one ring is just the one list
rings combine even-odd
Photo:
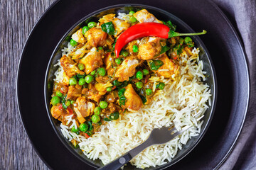
[(137, 11), (134, 13), (134, 17), (139, 21), (140, 23), (162, 23), (156, 17), (152, 14), (149, 13), (149, 11), (146, 11), (146, 9), (142, 9), (140, 11)]

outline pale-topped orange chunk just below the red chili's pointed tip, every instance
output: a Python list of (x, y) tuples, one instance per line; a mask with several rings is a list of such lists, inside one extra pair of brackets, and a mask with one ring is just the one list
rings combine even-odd
[(139, 61), (134, 57), (127, 57), (122, 64), (117, 67), (117, 72), (114, 77), (118, 78), (118, 81), (129, 80), (136, 72), (136, 67), (139, 65)]

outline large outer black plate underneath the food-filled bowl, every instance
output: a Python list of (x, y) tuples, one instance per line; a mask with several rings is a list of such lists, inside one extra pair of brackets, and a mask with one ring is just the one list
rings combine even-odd
[[(23, 126), (43, 161), (53, 169), (92, 169), (71, 154), (55, 135), (43, 101), (43, 81), (50, 55), (60, 38), (82, 17), (105, 6), (138, 1), (56, 1), (29, 36), (21, 55), (17, 100)], [(204, 1), (141, 0), (173, 13), (201, 37), (218, 78), (218, 102), (210, 128), (201, 142), (174, 169), (215, 169), (225, 160), (240, 134), (249, 97), (245, 52), (233, 26), (215, 4)], [(185, 5), (186, 4), (186, 5)], [(214, 13), (214, 15), (213, 15)]]

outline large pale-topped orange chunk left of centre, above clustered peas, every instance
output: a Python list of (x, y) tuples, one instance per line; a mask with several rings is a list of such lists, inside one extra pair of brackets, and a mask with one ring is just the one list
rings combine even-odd
[(90, 74), (90, 72), (103, 65), (102, 55), (97, 52), (96, 47), (93, 47), (79, 62), (85, 65), (86, 74)]

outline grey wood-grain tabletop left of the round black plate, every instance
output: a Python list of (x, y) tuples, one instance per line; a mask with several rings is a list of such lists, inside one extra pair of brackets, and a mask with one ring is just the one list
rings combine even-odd
[(28, 140), (16, 104), (16, 72), (23, 45), (54, 0), (0, 0), (0, 169), (48, 169)]

